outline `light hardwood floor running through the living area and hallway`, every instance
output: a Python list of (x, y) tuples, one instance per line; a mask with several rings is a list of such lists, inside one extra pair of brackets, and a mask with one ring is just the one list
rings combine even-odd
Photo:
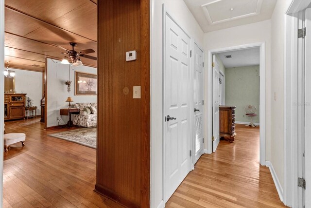
[[(121, 207), (93, 191), (96, 151), (48, 134), (39, 119), (5, 122), (25, 132), (26, 146), (4, 152), (4, 208)], [(168, 208), (284, 207), (267, 167), (259, 166), (259, 128), (237, 125), (235, 143), (204, 154), (166, 204)]]

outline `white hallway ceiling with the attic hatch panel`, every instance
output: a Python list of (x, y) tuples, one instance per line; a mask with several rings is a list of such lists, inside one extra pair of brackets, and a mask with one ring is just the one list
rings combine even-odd
[(205, 33), (271, 19), (276, 6), (276, 0), (184, 1)]

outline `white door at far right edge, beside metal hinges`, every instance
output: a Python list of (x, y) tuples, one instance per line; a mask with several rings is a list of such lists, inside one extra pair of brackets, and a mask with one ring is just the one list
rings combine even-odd
[[(302, 198), (304, 198), (305, 207), (311, 208), (311, 134), (309, 133), (309, 129), (311, 127), (311, 8), (306, 9), (306, 37), (305, 37), (305, 119), (304, 119), (304, 150), (305, 157), (302, 158), (302, 172), (301, 176), (304, 177), (307, 185), (304, 191)], [(299, 151), (298, 151), (299, 152)], [(298, 171), (299, 174), (299, 171)], [(302, 188), (301, 188), (302, 189)], [(303, 189), (302, 189), (303, 192)], [(303, 206), (303, 205), (302, 205)]]

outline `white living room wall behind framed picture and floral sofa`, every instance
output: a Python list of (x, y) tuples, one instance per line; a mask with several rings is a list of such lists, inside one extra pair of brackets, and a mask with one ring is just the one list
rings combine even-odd
[[(71, 91), (67, 92), (67, 85), (65, 82), (69, 80), (69, 65), (59, 63), (59, 60), (53, 60), (48, 58), (47, 65), (47, 127), (66, 124), (69, 120), (69, 116), (59, 115), (59, 110), (68, 108), (68, 102), (65, 102), (67, 97), (71, 97), (74, 103), (87, 103), (97, 102), (96, 95), (74, 95), (74, 73), (87, 72), (97, 74), (97, 69), (88, 66), (72, 67), (70, 65), (70, 80)], [(74, 68), (74, 70), (73, 70)], [(56, 118), (61, 118), (58, 121)]]

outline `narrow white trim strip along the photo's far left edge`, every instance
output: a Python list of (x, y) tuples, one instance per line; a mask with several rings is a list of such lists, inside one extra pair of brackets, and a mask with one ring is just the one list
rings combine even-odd
[[(0, 66), (4, 66), (4, 0), (0, 1)], [(0, 73), (0, 97), (4, 97), (4, 75)], [(0, 147), (3, 147), (4, 105), (0, 104)], [(3, 151), (0, 152), (0, 207), (3, 198)]]

